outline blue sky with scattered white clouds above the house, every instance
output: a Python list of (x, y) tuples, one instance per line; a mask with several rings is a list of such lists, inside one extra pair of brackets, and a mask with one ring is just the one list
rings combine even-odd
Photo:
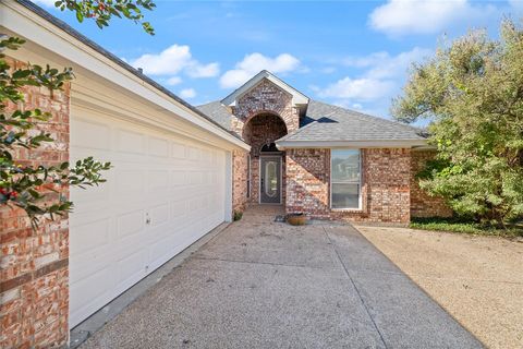
[(385, 118), (410, 64), (443, 34), (485, 28), (497, 37), (503, 16), (523, 16), (523, 0), (156, 0), (149, 36), (126, 21), (100, 31), (53, 9), (54, 0), (36, 2), (194, 105), (267, 69), (313, 99)]

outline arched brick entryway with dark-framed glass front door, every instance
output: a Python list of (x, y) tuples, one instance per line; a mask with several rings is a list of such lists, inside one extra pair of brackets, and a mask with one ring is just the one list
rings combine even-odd
[(275, 141), (287, 134), (276, 113), (260, 112), (247, 120), (243, 140), (251, 145), (248, 200), (260, 204), (283, 204), (285, 200), (285, 156)]

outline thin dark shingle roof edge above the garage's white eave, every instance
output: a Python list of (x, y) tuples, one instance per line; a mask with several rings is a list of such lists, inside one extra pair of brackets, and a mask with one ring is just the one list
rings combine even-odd
[(57, 19), (56, 16), (51, 15), (49, 12), (47, 12), (46, 10), (41, 9), (40, 7), (36, 5), (34, 2), (29, 1), (29, 0), (16, 0), (17, 3), (22, 4), (23, 7), (25, 7), (26, 9), (31, 10), (32, 12), (34, 12), (35, 14), (37, 14), (38, 16), (42, 17), (44, 20), (48, 21), (49, 23), (56, 25), (57, 27), (59, 27), (60, 29), (64, 31), (65, 33), (68, 33), (69, 35), (71, 35), (72, 37), (76, 38), (77, 40), (82, 41), (83, 44), (87, 45), (88, 47), (90, 47), (92, 49), (98, 51), (100, 55), (107, 57), (108, 59), (110, 59), (111, 61), (113, 61), (114, 63), (117, 63), (118, 65), (120, 65), (121, 68), (125, 69), (126, 71), (131, 72), (132, 74), (136, 75), (137, 77), (139, 77), (142, 81), (144, 81), (146, 84), (149, 84), (151, 85), (153, 87), (155, 87), (156, 89), (160, 91), (161, 93), (166, 94), (167, 96), (169, 96), (170, 98), (172, 98), (175, 103), (179, 103), (181, 105), (183, 105), (185, 108), (190, 109), (192, 112), (194, 112), (197, 117), (199, 118), (203, 118), (207, 121), (210, 121), (211, 123), (214, 123), (215, 125), (219, 127), (220, 129), (223, 129), (224, 131), (227, 131), (228, 133), (230, 133), (231, 135), (233, 135), (234, 137), (236, 139), (241, 139), (239, 135), (236, 135), (234, 132), (232, 132), (230, 130), (230, 128), (223, 128), (219, 122), (217, 122), (215, 119), (208, 117), (206, 113), (202, 112), (200, 110), (198, 110), (196, 107), (192, 106), (191, 104), (188, 104), (187, 101), (183, 100), (182, 98), (180, 98), (179, 96), (177, 96), (175, 94), (173, 94), (171, 91), (169, 91), (168, 88), (163, 87), (162, 85), (158, 84), (156, 81), (154, 81), (153, 79), (144, 75), (143, 73), (141, 73), (137, 69), (135, 69), (134, 67), (132, 67), (131, 64), (124, 62), (123, 60), (121, 60), (120, 58), (118, 58), (117, 56), (114, 56), (113, 53), (109, 52), (108, 50), (106, 50), (105, 48), (102, 48), (101, 46), (99, 46), (98, 44), (96, 44), (95, 41), (90, 40), (88, 37), (84, 36), (83, 34), (81, 34), (80, 32), (77, 32), (76, 29), (74, 29), (72, 26), (70, 26), (69, 24), (66, 24), (65, 22)]

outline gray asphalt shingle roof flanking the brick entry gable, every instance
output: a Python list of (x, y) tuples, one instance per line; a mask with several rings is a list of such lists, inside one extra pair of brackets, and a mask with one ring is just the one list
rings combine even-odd
[[(222, 127), (231, 128), (231, 115), (220, 101), (197, 107)], [(415, 141), (425, 140), (423, 130), (368, 116), (342, 107), (311, 100), (300, 129), (279, 141)]]

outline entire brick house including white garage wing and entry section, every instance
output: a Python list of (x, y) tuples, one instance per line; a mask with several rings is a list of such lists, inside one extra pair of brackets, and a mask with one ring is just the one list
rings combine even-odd
[[(62, 92), (27, 87), (56, 142), (17, 160), (111, 161), (100, 188), (71, 189), (75, 210), (33, 230), (0, 208), (0, 347), (53, 347), (71, 328), (248, 204), (325, 219), (406, 224), (445, 209), (413, 173), (431, 153), (418, 130), (311, 100), (263, 71), (195, 108), (27, 0), (0, 2), (8, 51), (72, 67)], [(412, 168), (411, 168), (412, 167)], [(413, 169), (414, 168), (414, 169)]]

